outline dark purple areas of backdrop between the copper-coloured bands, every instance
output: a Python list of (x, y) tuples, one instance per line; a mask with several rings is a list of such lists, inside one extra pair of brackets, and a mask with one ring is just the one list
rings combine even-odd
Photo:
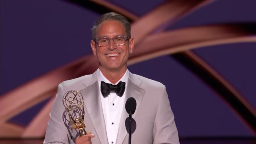
[[(163, 1), (110, 0), (139, 16)], [(1, 0), (0, 4), (1, 95), (92, 53), (90, 29), (99, 17), (96, 12), (60, 0)], [(167, 30), (204, 24), (256, 22), (255, 6), (255, 0), (215, 1), (180, 19)], [(225, 44), (193, 51), (256, 108), (255, 47), (256, 43)], [(166, 85), (181, 137), (255, 136), (213, 90), (172, 57), (154, 58), (131, 65), (129, 70)], [(27, 125), (46, 101), (11, 121)]]

